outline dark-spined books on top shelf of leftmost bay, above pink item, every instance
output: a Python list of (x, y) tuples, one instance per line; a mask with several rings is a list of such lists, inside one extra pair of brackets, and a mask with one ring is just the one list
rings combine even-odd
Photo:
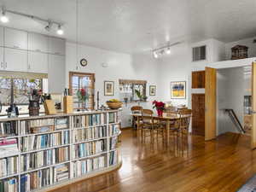
[(13, 137), (18, 135), (18, 123), (7, 121), (0, 123), (0, 137)]

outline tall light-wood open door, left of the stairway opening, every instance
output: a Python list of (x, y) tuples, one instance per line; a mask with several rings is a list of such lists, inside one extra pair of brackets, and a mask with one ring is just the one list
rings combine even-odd
[(205, 140), (216, 138), (216, 69), (206, 67)]

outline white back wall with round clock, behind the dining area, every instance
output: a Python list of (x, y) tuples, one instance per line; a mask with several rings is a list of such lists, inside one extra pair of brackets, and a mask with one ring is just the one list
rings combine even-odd
[[(105, 49), (97, 49), (85, 45), (79, 45), (79, 61), (85, 58), (88, 61), (86, 67), (79, 67), (77, 69), (77, 55), (76, 45), (67, 43), (66, 46), (66, 86), (68, 87), (68, 73), (95, 73), (96, 84), (95, 92), (100, 91), (100, 102), (105, 104), (106, 101), (112, 98), (119, 99), (119, 79), (139, 79), (147, 80), (147, 96), (149, 85), (157, 85), (156, 95), (148, 96), (147, 103), (141, 103), (144, 108), (152, 108), (151, 102), (159, 96), (158, 89), (158, 61), (154, 60), (149, 55), (129, 55), (117, 53)], [(102, 67), (102, 63), (107, 63), (108, 67)], [(114, 96), (104, 96), (104, 81), (114, 81)], [(129, 113), (132, 105), (137, 103), (127, 104), (123, 106), (122, 112), (122, 126), (129, 126)]]

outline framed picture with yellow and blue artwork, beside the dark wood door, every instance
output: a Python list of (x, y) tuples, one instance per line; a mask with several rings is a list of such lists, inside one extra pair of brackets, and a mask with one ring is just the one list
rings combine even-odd
[(171, 82), (171, 99), (186, 98), (186, 81)]

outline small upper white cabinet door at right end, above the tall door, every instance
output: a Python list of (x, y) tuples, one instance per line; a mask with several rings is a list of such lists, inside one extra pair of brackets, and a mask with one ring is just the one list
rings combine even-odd
[(62, 38), (49, 37), (49, 53), (55, 55), (65, 55), (66, 41)]

